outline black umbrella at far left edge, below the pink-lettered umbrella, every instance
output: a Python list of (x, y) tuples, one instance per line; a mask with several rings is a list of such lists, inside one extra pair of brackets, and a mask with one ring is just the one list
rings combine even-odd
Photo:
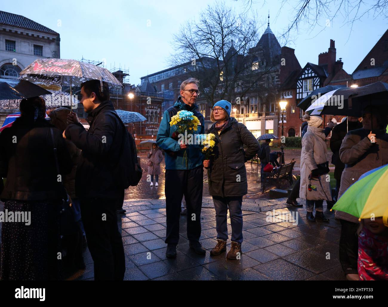
[(51, 93), (26, 80), (0, 81), (0, 100), (25, 99)]

